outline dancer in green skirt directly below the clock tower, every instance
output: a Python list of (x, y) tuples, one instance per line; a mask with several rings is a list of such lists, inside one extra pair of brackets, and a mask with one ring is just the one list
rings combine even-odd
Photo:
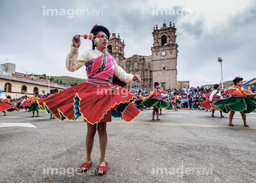
[(153, 108), (154, 108), (154, 110), (152, 112), (152, 120), (153, 121), (154, 121), (155, 113), (156, 113), (156, 116), (157, 116), (157, 120), (158, 121), (160, 120), (160, 118), (159, 118), (159, 109), (160, 108), (166, 108), (166, 107), (170, 106), (161, 97), (161, 94), (164, 93), (164, 90), (165, 90), (165, 86), (164, 86), (164, 89), (160, 89), (159, 88), (159, 82), (155, 82), (154, 83), (154, 90), (151, 91), (151, 93), (149, 94), (150, 98), (145, 100), (145, 101), (142, 101), (142, 104), (144, 106), (146, 106), (147, 108), (151, 108), (153, 106)]

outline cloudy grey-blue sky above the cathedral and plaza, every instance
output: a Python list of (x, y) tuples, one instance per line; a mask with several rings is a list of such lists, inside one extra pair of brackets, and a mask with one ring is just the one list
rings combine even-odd
[[(218, 57), (224, 81), (256, 77), (253, 0), (1, 0), (0, 16), (0, 62), (8, 59), (16, 72), (86, 78), (85, 67), (68, 72), (65, 57), (73, 35), (90, 33), (95, 23), (120, 34), (125, 57), (151, 55), (153, 28), (165, 19), (177, 28), (178, 81), (193, 87), (220, 82)], [(82, 40), (80, 50), (90, 48)]]

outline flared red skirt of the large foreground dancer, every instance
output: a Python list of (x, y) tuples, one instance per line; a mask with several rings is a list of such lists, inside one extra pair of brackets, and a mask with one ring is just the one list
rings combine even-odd
[(139, 115), (139, 110), (132, 103), (135, 99), (136, 96), (122, 87), (112, 89), (109, 85), (99, 86), (85, 82), (39, 99), (38, 104), (60, 121), (65, 118), (75, 121), (82, 116), (85, 121), (95, 124), (107, 117), (110, 111), (113, 117), (132, 121)]

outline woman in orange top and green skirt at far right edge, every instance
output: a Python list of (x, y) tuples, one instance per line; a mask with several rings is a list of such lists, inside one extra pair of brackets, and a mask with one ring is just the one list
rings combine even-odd
[(224, 90), (225, 94), (231, 94), (227, 99), (214, 101), (213, 106), (220, 109), (224, 113), (229, 113), (229, 126), (234, 126), (232, 123), (235, 112), (240, 112), (244, 126), (248, 127), (246, 123), (246, 113), (251, 113), (256, 109), (256, 94), (250, 94), (249, 91), (242, 87), (242, 77), (235, 77), (233, 79), (235, 87), (228, 87)]

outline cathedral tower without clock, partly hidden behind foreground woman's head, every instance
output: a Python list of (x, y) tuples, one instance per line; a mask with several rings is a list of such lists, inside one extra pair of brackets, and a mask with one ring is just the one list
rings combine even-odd
[(114, 60), (119, 65), (120, 60), (124, 60), (124, 40), (121, 41), (119, 33), (118, 37), (116, 37), (115, 33), (112, 33), (112, 36), (110, 37), (107, 45), (107, 52), (114, 57)]

